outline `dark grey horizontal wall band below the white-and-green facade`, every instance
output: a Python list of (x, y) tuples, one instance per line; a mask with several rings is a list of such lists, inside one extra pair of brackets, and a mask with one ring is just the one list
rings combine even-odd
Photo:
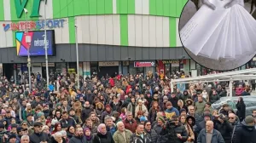
[[(26, 63), (15, 48), (0, 49), (0, 63)], [(44, 56), (32, 57), (32, 63), (44, 62)], [(113, 45), (79, 44), (79, 61), (176, 60), (189, 59), (183, 48), (145, 48)], [(75, 44), (57, 44), (49, 62), (76, 62)]]

